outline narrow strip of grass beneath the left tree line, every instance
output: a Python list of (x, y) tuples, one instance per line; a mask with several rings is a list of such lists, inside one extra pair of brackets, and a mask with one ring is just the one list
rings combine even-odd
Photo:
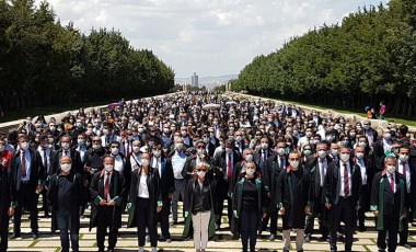
[(107, 102), (90, 102), (90, 103), (74, 103), (62, 106), (46, 106), (46, 107), (31, 107), (14, 111), (4, 111), (4, 116), (0, 117), (0, 123), (5, 123), (16, 119), (25, 119), (27, 116), (34, 117), (37, 115), (50, 115), (62, 113), (66, 111), (73, 111), (80, 107), (100, 106), (108, 104)]

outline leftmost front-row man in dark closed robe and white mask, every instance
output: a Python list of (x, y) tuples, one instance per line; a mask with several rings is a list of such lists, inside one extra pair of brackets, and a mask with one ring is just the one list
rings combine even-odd
[[(79, 251), (80, 215), (82, 204), (83, 182), (81, 174), (72, 170), (72, 160), (62, 156), (59, 160), (59, 171), (49, 181), (47, 194), (51, 206), (51, 231), (59, 229), (62, 252), (69, 252), (69, 239), (72, 251)], [(70, 234), (68, 234), (68, 230)]]

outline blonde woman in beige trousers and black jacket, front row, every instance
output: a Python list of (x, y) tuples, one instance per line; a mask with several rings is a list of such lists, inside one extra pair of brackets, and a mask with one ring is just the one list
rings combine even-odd
[(185, 228), (183, 237), (188, 238), (190, 225), (194, 228), (194, 244), (197, 252), (205, 252), (208, 238), (216, 234), (215, 226), (215, 183), (207, 176), (208, 164), (200, 162), (195, 167), (194, 177), (185, 188)]

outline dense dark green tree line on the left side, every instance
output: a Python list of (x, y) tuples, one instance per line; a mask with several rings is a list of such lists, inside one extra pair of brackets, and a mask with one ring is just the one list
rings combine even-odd
[(48, 2), (0, 0), (0, 105), (4, 110), (161, 94), (174, 71), (120, 32), (62, 25)]

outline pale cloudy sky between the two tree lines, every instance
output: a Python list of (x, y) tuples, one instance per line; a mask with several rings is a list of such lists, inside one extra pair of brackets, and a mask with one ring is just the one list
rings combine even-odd
[[(39, 2), (41, 0), (37, 0)], [(359, 7), (388, 0), (47, 0), (62, 24), (85, 34), (115, 28), (151, 49), (176, 77), (239, 73), (255, 56)]]

